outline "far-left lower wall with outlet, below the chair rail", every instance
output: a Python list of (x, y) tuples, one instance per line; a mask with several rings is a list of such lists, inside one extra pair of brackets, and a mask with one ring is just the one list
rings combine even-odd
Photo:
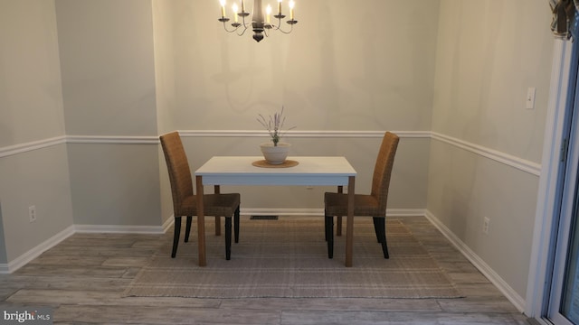
[[(54, 145), (0, 158), (6, 262), (13, 262), (72, 226), (67, 148)], [(35, 206), (30, 222), (28, 207)]]

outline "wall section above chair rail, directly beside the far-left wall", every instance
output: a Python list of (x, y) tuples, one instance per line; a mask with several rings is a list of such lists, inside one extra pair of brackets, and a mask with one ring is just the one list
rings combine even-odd
[(55, 4), (67, 135), (157, 135), (150, 1)]

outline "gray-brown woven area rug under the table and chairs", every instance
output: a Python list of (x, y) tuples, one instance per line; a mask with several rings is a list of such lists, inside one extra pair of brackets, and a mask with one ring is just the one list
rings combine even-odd
[[(346, 221), (346, 218), (344, 218)], [(196, 219), (194, 218), (194, 225)], [(225, 260), (224, 237), (205, 218), (207, 266), (197, 265), (196, 228), (171, 258), (172, 234), (128, 286), (125, 296), (195, 298), (458, 298), (444, 270), (398, 219), (387, 219), (390, 259), (372, 218), (356, 218), (354, 267), (345, 266), (345, 234), (327, 258), (323, 218), (242, 217), (240, 243)], [(223, 223), (223, 222), (222, 222)], [(346, 222), (344, 222), (346, 227)], [(183, 227), (185, 228), (185, 227)], [(345, 230), (345, 229), (344, 229)], [(172, 231), (172, 230), (171, 230)]]

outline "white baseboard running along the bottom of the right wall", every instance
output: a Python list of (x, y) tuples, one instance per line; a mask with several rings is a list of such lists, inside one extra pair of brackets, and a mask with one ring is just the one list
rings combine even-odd
[(525, 311), (526, 302), (523, 297), (521, 297), (513, 288), (508, 285), (487, 263), (485, 263), (482, 258), (479, 257), (475, 252), (470, 249), (459, 237), (451, 232), (451, 229), (447, 228), (439, 218), (436, 218), (430, 211), (426, 210), (424, 217), (428, 218), (434, 227), (438, 228), (442, 235), (451, 241), (462, 255), (469, 259), (470, 263), (474, 265), (481, 274), (483, 274), (489, 281), (502, 292), (512, 304), (515, 305), (518, 311)]

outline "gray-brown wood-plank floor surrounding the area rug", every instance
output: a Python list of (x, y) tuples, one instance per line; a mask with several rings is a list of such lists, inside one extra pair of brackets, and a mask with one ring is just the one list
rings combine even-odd
[(0, 275), (0, 311), (48, 306), (58, 324), (528, 324), (426, 218), (401, 220), (466, 298), (122, 298), (172, 233), (75, 234), (14, 274)]

